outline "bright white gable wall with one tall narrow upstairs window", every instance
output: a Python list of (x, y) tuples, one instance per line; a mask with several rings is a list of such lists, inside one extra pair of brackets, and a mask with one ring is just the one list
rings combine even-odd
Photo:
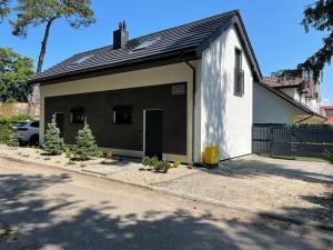
[[(243, 51), (244, 96), (234, 96), (234, 53)], [(206, 146), (219, 146), (221, 159), (252, 151), (253, 78), (235, 28), (230, 28), (203, 51), (198, 81), (198, 113), (195, 161), (201, 161)], [(198, 126), (198, 124), (196, 124)]]

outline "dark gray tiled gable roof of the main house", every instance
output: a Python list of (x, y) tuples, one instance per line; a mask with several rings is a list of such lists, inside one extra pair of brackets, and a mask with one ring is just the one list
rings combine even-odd
[[(147, 60), (159, 56), (193, 50), (198, 58), (218, 36), (231, 24), (239, 23), (240, 33), (249, 49), (253, 70), (261, 78), (260, 69), (254, 52), (250, 44), (246, 31), (239, 11), (230, 11), (184, 26), (159, 31), (129, 41), (127, 49), (113, 50), (112, 46), (78, 53), (71, 58), (39, 73), (31, 82), (42, 82), (62, 77), (74, 76), (82, 72), (98, 71), (101, 69), (120, 67), (133, 61)], [(135, 50), (139, 44), (145, 41), (155, 40), (151, 46)], [(78, 60), (81, 63), (75, 63)]]

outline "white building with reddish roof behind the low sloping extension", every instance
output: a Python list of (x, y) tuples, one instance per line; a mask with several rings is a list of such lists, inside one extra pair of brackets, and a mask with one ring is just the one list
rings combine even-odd
[(312, 111), (320, 112), (320, 84), (307, 78), (278, 78), (266, 77), (263, 82), (268, 86), (278, 89), (295, 101), (306, 106)]

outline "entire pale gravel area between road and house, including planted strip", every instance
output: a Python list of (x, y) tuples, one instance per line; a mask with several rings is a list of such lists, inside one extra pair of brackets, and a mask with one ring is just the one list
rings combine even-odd
[(50, 164), (79, 172), (93, 172), (107, 179), (159, 191), (204, 200), (255, 213), (333, 224), (333, 164), (249, 156), (222, 162), (214, 170), (184, 166), (167, 174), (142, 171), (139, 162), (101, 164), (100, 159), (67, 164), (64, 156), (40, 157), (36, 149), (9, 149), (0, 146), (0, 156)]

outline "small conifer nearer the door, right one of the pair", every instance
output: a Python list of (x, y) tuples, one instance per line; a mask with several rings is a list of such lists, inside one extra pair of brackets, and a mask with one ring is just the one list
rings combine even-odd
[(95, 139), (88, 124), (79, 130), (77, 136), (77, 144), (73, 149), (73, 154), (79, 160), (88, 160), (89, 157), (95, 156), (97, 144)]

